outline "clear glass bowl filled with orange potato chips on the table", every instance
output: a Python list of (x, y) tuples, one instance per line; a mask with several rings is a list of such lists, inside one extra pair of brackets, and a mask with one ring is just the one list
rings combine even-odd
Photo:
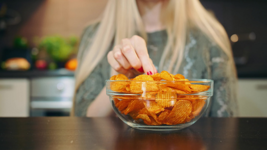
[(195, 123), (213, 95), (213, 80), (106, 80), (115, 113), (131, 127), (177, 130)]

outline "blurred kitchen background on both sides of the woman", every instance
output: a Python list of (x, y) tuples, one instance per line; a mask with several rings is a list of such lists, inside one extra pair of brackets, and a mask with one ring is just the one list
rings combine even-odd
[[(200, 0), (225, 27), (240, 116), (267, 117), (267, 1)], [(107, 0), (0, 0), (0, 117), (69, 115), (80, 36)]]

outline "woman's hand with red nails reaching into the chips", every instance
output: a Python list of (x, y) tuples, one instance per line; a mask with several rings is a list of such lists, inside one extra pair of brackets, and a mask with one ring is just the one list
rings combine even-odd
[(127, 77), (136, 75), (154, 74), (157, 70), (149, 58), (145, 40), (137, 35), (124, 38), (108, 53), (108, 62), (111, 67)]

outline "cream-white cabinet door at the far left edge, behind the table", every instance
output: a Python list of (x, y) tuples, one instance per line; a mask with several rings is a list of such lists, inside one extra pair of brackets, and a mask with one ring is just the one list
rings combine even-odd
[(29, 79), (0, 79), (0, 117), (29, 116), (29, 102)]

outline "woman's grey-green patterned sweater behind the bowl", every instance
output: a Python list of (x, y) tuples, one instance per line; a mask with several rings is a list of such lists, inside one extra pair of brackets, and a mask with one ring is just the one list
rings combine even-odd
[[(92, 42), (92, 37), (98, 24), (90, 25), (82, 35), (78, 59), (83, 61), (87, 53), (87, 46)], [(147, 33), (147, 49), (158, 72), (159, 60), (167, 42), (166, 30)], [(112, 50), (113, 45), (110, 47)], [(188, 31), (185, 51), (181, 66), (177, 73), (186, 78), (206, 78), (214, 80), (214, 93), (210, 105), (205, 113), (206, 116), (236, 116), (238, 113), (236, 97), (236, 77), (233, 72), (226, 72), (228, 56), (216, 44), (199, 30)], [(85, 116), (88, 106), (97, 97), (105, 86), (105, 80), (110, 78), (110, 65), (107, 55), (98, 63), (94, 70), (80, 85), (75, 99), (75, 115)], [(167, 70), (168, 62), (163, 70)], [(78, 69), (79, 70), (79, 67)], [(176, 73), (176, 72), (175, 72)]]

